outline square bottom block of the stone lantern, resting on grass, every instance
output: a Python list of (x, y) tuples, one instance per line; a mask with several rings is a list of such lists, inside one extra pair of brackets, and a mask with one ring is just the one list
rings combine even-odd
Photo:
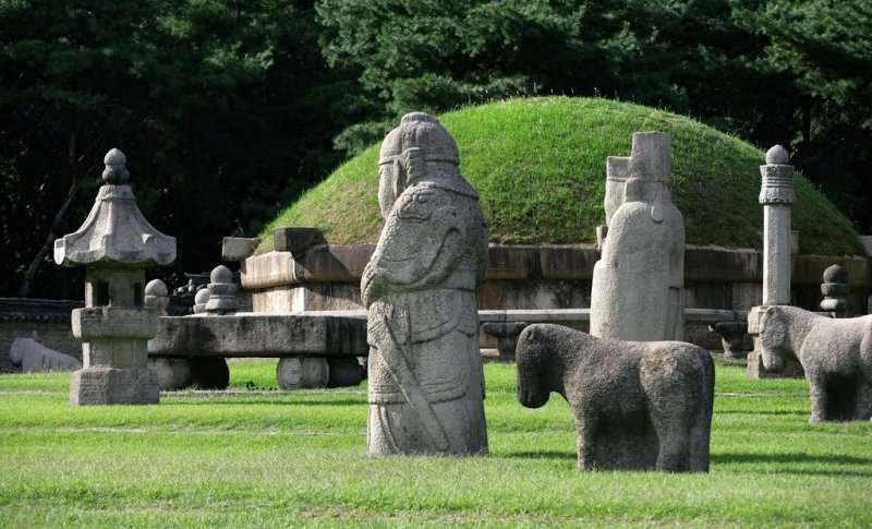
[(142, 405), (159, 400), (160, 386), (148, 368), (85, 368), (73, 373), (70, 384), (73, 406)]

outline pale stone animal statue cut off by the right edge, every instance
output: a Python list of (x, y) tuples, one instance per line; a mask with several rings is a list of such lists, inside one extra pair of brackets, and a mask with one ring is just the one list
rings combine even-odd
[(760, 320), (763, 366), (797, 359), (811, 386), (811, 422), (872, 418), (872, 315), (835, 320), (774, 305)]

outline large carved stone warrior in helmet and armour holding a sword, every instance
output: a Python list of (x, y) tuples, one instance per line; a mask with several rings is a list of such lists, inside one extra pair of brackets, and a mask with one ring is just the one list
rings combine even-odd
[(484, 454), (475, 288), (487, 265), (479, 194), (457, 144), (426, 113), (382, 144), (385, 228), (363, 273), (368, 310), (370, 454)]

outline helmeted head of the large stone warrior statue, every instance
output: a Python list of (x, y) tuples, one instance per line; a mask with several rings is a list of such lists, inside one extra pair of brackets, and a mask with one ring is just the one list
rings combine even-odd
[[(460, 177), (459, 164), (457, 143), (436, 118), (424, 112), (407, 113), (382, 142), (378, 159), (382, 215), (387, 217), (397, 197), (422, 180), (464, 188), (465, 192), (469, 185)], [(451, 185), (452, 180), (462, 183)]]

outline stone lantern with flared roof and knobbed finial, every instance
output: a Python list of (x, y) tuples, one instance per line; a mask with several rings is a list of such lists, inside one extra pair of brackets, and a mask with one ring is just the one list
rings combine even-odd
[(55, 262), (85, 266), (85, 308), (72, 313), (83, 368), (73, 373), (73, 405), (157, 404), (160, 389), (148, 369), (148, 340), (159, 308), (145, 306), (145, 268), (175, 260), (175, 238), (140, 213), (128, 185), (126, 158), (113, 148), (104, 159), (105, 184), (74, 233), (55, 241)]

